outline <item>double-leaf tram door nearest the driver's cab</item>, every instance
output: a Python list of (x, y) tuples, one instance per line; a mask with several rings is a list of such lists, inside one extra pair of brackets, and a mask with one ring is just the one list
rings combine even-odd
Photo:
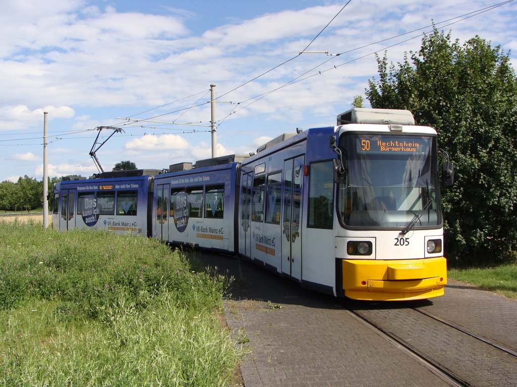
[(301, 203), (305, 156), (284, 162), (282, 272), (301, 280)]

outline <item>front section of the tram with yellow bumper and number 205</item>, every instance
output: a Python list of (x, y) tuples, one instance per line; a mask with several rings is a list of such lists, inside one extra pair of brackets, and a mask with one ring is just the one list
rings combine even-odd
[(239, 254), (360, 300), (443, 295), (436, 131), (408, 111), (353, 109), (242, 162)]

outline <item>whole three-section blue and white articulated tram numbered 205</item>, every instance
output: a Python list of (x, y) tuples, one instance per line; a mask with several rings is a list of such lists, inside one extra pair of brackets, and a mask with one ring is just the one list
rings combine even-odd
[(438, 297), (447, 284), (439, 186), (452, 184), (453, 168), (445, 163), (440, 179), (436, 139), (407, 110), (354, 108), (255, 154), (57, 183), (54, 227), (239, 255), (338, 297)]

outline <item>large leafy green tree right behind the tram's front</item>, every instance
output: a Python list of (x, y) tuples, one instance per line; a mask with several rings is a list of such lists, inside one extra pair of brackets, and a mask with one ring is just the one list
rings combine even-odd
[[(436, 128), (455, 164), (443, 192), (446, 253), (498, 261), (517, 248), (517, 78), (509, 55), (476, 36), (461, 45), (436, 28), (397, 66), (377, 57), (372, 107), (413, 111)], [(410, 59), (409, 59), (410, 58)]]

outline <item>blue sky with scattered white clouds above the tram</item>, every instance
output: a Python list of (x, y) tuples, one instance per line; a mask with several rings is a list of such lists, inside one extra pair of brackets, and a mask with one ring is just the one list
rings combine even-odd
[[(0, 181), (42, 178), (43, 111), (49, 113), (50, 176), (97, 172), (88, 153), (98, 126), (124, 131), (97, 152), (105, 170), (122, 160), (162, 169), (210, 157), (210, 84), (219, 99), (218, 155), (253, 152), (296, 127), (334, 125), (377, 75), (373, 53), (383, 55), (390, 47), (388, 59), (403, 60), (405, 52), (419, 49), (420, 34), (433, 21), (461, 42), (479, 35), (511, 51), (517, 68), (514, 1), (447, 23), (442, 22), (501, 2), (2, 3)], [(298, 55), (309, 43), (308, 51), (347, 53)], [(293, 79), (299, 82), (279, 89)], [(109, 135), (101, 131), (100, 140)]]

